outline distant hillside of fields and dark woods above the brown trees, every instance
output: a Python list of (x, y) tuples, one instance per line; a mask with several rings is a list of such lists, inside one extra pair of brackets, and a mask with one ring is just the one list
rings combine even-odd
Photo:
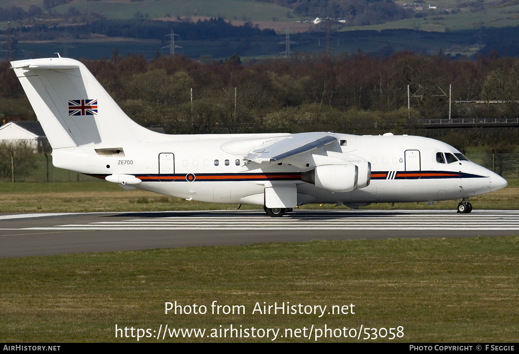
[[(491, 50), (500, 55), (518, 54), (517, 29), (509, 26), (519, 25), (519, 5), (512, 2), (444, 0), (437, 9), (413, 10), (413, 18), (363, 26), (332, 23), (329, 27), (325, 22), (313, 24), (308, 21), (313, 18), (299, 15), (325, 11), (326, 6), (334, 3), (332, 0), (319, 2), (320, 8), (305, 11), (301, 5), (307, 4), (307, 0), (101, 0), (50, 6), (63, 2), (67, 0), (2, 2), (0, 21), (4, 22), (0, 22), (0, 31), (4, 29), (4, 38), (8, 38), (7, 19), (24, 14), (22, 19), (10, 20), (10, 52), (14, 58), (61, 52), (74, 58), (96, 59), (107, 58), (114, 50), (123, 55), (142, 53), (146, 58), (154, 58), (169, 54), (171, 31), (175, 45), (182, 47), (175, 52), (191, 58), (225, 59), (233, 54), (242, 58), (279, 56), (287, 49), (287, 30), (291, 33), (292, 52), (329, 49), (333, 53), (389, 55), (408, 50), (469, 58)], [(352, 3), (361, 6), (363, 0)], [(208, 35), (207, 22), (215, 17), (220, 19), (221, 31)], [(266, 29), (274, 29), (277, 35)], [(7, 44), (2, 49), (7, 54)]]

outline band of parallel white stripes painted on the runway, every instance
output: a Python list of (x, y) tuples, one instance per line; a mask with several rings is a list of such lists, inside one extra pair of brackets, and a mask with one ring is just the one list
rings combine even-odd
[[(102, 221), (88, 224), (66, 224), (50, 228), (23, 230), (518, 230), (519, 213), (482, 215), (395, 214), (380, 215), (372, 211), (362, 217), (353, 213), (334, 216), (308, 215), (319, 212), (288, 214), (269, 218), (250, 213), (229, 216), (163, 217)], [(306, 215), (305, 215), (306, 214)]]

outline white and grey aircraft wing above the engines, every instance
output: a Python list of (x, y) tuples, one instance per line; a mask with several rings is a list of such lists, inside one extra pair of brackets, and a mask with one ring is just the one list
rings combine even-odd
[(249, 152), (245, 159), (257, 163), (276, 162), (332, 144), (338, 144), (338, 141), (329, 133), (293, 134), (281, 139), (265, 141)]

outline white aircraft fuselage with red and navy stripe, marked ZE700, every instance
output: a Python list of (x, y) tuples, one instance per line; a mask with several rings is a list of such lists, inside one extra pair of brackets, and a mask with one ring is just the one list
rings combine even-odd
[[(257, 145), (255, 139), (263, 141), (286, 134), (170, 136), (171, 140), (121, 147), (122, 154), (111, 155), (97, 153), (94, 148), (86, 155), (88, 149), (83, 148), (80, 156), (79, 151), (73, 151), (75, 148), (64, 148), (54, 150), (54, 164), (99, 178), (134, 176), (142, 180), (135, 185), (137, 188), (183, 199), (255, 205), (264, 205), (265, 186), (273, 181), (295, 183), (297, 205), (344, 203), (353, 207), (463, 199), (506, 185), (500, 176), (473, 162), (447, 161), (447, 153), (452, 157), (460, 152), (438, 140), (328, 134), (344, 141), (341, 153), (354, 154), (371, 163), (371, 182), (367, 187), (343, 193), (318, 188), (302, 181), (302, 174), (311, 167), (305, 168), (298, 161), (261, 166), (247, 163), (245, 156)], [(70, 155), (65, 151), (69, 149)], [(327, 155), (322, 149), (316, 153)]]

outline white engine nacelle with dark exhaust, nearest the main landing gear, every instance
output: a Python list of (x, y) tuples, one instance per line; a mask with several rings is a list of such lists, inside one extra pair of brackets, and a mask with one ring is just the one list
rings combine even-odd
[(318, 188), (336, 193), (350, 192), (357, 188), (359, 167), (354, 164), (321, 165), (303, 173), (303, 181)]

